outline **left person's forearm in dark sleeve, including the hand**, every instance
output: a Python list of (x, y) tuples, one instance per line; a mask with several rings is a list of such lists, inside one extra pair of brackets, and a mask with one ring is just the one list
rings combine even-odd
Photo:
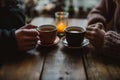
[(39, 33), (34, 25), (25, 25), (17, 30), (0, 29), (0, 55), (26, 52), (35, 48)]

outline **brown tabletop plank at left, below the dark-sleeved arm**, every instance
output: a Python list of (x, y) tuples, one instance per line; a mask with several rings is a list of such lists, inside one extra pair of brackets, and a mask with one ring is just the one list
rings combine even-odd
[(31, 50), (3, 62), (0, 67), (0, 80), (39, 80), (44, 56)]

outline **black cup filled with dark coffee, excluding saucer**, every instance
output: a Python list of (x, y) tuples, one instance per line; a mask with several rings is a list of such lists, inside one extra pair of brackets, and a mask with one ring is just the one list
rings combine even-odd
[(80, 46), (84, 40), (85, 29), (77, 26), (67, 27), (65, 35), (69, 46)]

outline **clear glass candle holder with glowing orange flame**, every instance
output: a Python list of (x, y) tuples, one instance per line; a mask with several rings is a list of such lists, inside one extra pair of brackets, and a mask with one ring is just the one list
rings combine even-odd
[(68, 26), (68, 12), (56, 12), (55, 13), (55, 20), (56, 26), (58, 30), (58, 36), (64, 36), (64, 29)]

